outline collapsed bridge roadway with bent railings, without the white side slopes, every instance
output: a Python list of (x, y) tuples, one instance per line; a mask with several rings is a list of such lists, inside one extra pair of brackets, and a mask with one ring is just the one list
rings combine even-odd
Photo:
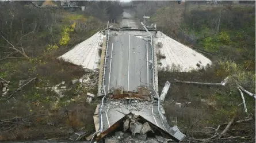
[(105, 30), (98, 90), (102, 102), (94, 114), (97, 132), (91, 142), (118, 131), (142, 140), (161, 136), (179, 142), (185, 138), (177, 126), (169, 126), (158, 100), (156, 31), (144, 28)]

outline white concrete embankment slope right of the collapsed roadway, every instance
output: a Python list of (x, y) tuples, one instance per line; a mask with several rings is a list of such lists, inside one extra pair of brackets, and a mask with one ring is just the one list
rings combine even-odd
[(212, 63), (211, 60), (201, 55), (201, 53), (194, 51), (192, 48), (175, 41), (173, 38), (159, 31), (154, 38), (156, 48), (158, 43), (162, 43), (162, 48), (158, 48), (158, 52), (165, 55), (165, 59), (160, 60), (162, 65), (158, 65), (158, 67), (166, 68), (168, 65), (171, 67), (172, 64), (181, 65), (181, 71), (188, 72), (192, 69), (198, 69), (197, 63), (200, 63), (202, 66)]

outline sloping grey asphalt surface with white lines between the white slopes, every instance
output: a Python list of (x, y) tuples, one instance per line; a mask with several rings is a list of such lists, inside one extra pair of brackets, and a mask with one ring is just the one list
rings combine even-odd
[[(138, 86), (152, 87), (150, 44), (136, 36), (123, 34), (109, 37), (105, 70), (105, 90), (123, 87), (137, 91)], [(112, 57), (112, 58), (111, 58)]]

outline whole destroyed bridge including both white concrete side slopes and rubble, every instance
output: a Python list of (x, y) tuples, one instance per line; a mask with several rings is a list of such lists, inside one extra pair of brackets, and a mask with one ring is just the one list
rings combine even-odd
[[(104, 30), (60, 56), (99, 72), (97, 96), (101, 103), (93, 117), (96, 132), (89, 140), (116, 142), (109, 138), (113, 133), (119, 134), (117, 140), (120, 134), (129, 133), (130, 138), (140, 138), (142, 142), (163, 142), (151, 141), (152, 136), (165, 138), (165, 142), (182, 141), (186, 136), (177, 126), (167, 123), (161, 105), (170, 83), (166, 82), (158, 95), (158, 68), (175, 64), (182, 65), (181, 70), (186, 72), (211, 64), (211, 60), (156, 31), (156, 25), (137, 22), (134, 15), (131, 9), (125, 10), (119, 27), (108, 23)], [(157, 54), (166, 58), (157, 59)], [(74, 140), (82, 134), (77, 133)]]

